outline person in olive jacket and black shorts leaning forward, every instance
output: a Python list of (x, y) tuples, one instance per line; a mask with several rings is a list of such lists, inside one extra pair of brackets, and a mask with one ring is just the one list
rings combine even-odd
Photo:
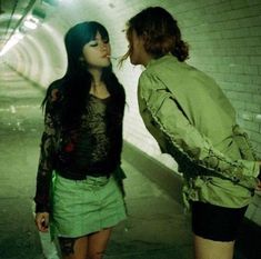
[(132, 64), (142, 64), (140, 114), (162, 152), (183, 173), (192, 211), (194, 257), (232, 259), (234, 239), (259, 189), (260, 162), (235, 112), (213, 79), (185, 63), (188, 44), (174, 18), (150, 7), (128, 21)]

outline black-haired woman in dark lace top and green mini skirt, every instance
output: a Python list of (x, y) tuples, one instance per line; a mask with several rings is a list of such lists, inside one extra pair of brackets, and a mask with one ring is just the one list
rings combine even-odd
[(82, 22), (66, 34), (68, 69), (43, 100), (36, 223), (58, 236), (63, 259), (101, 259), (126, 218), (121, 170), (124, 89), (112, 71), (109, 34)]

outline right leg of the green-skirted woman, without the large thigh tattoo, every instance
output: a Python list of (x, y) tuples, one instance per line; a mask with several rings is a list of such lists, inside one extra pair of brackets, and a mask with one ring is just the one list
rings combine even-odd
[(88, 259), (102, 259), (111, 230), (109, 228), (88, 236)]

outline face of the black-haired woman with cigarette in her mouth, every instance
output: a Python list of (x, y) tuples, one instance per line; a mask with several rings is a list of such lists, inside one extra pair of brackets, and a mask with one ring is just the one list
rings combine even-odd
[(81, 58), (88, 68), (106, 68), (110, 66), (111, 47), (108, 39), (101, 37), (98, 31), (96, 38), (83, 46)]

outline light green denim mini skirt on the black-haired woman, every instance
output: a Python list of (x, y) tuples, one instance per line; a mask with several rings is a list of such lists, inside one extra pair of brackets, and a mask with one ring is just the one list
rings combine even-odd
[(113, 176), (71, 180), (56, 173), (50, 222), (54, 237), (87, 236), (113, 227), (126, 217), (123, 195)]

